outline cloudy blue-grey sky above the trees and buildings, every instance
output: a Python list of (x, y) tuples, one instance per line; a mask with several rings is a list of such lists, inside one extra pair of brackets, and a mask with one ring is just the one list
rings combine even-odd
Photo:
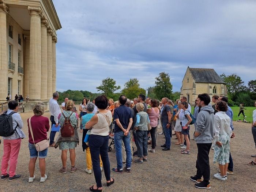
[[(187, 67), (256, 73), (256, 1), (53, 0), (57, 30), (57, 91), (87, 90), (107, 77), (124, 88), (155, 85), (160, 72), (180, 91)], [(118, 90), (117, 92), (121, 91)]]

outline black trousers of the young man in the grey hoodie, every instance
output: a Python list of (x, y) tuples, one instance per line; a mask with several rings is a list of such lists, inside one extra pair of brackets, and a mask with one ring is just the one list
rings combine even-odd
[(196, 177), (204, 177), (204, 182), (208, 183), (210, 180), (210, 164), (209, 152), (212, 143), (196, 143), (197, 145), (197, 160), (196, 160)]

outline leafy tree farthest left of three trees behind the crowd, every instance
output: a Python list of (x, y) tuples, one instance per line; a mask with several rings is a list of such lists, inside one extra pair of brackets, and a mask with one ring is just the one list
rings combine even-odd
[(101, 93), (105, 93), (107, 97), (110, 97), (111, 94), (114, 93), (114, 91), (120, 89), (121, 87), (118, 85), (116, 86), (116, 81), (112, 78), (106, 78), (102, 80), (102, 83), (100, 86), (96, 87), (98, 91), (101, 91)]

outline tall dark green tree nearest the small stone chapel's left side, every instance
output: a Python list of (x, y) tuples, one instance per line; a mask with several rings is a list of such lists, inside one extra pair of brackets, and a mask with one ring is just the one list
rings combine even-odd
[(170, 82), (170, 76), (168, 73), (161, 72), (159, 76), (155, 78), (154, 92), (157, 98), (160, 100), (163, 97), (171, 98), (173, 86)]

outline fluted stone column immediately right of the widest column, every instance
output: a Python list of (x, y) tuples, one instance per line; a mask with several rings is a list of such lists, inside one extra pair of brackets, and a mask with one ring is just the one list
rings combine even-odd
[(41, 55), (41, 100), (47, 99), (47, 28), (46, 20), (41, 23), (42, 55)]

